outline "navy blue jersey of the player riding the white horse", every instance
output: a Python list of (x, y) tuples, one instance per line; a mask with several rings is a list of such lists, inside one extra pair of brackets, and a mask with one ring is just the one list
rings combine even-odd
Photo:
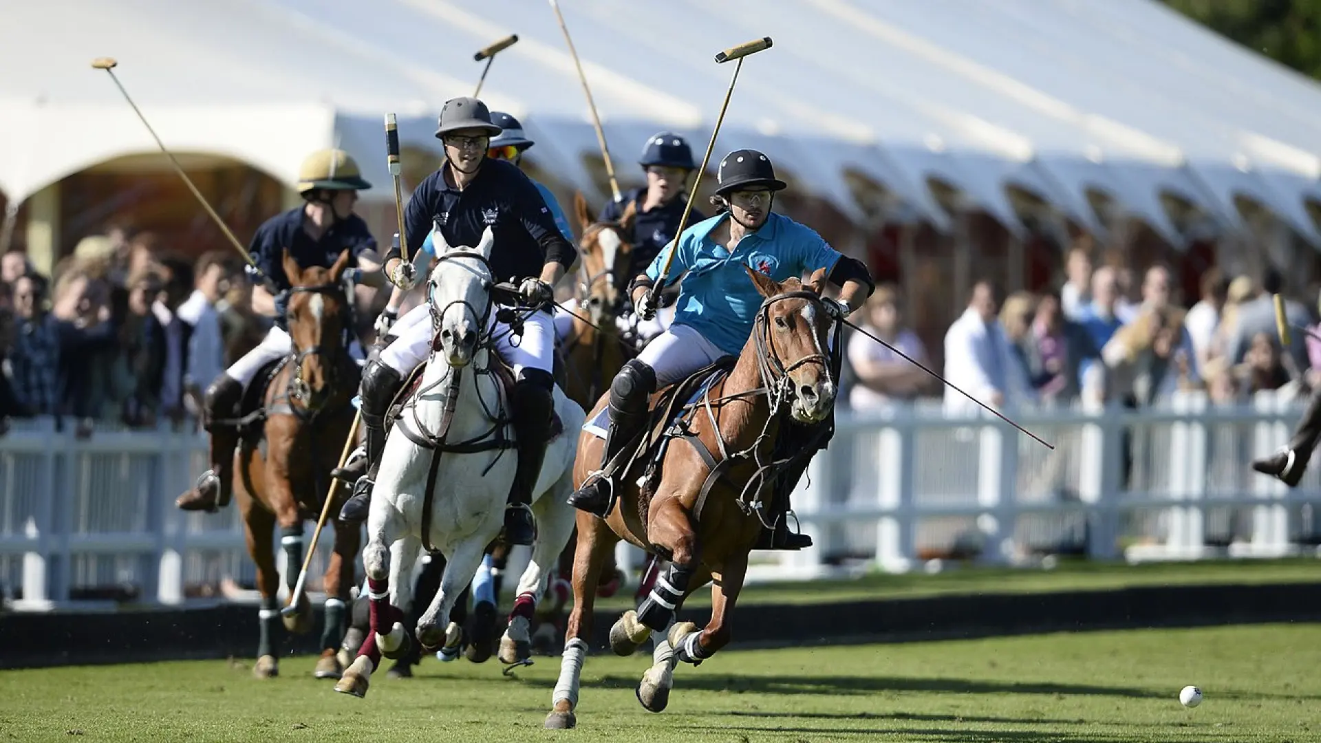
[[(446, 243), (466, 247), (476, 247), (490, 226), (495, 237), (490, 263), (497, 282), (540, 276), (542, 267), (551, 262), (568, 268), (577, 258), (542, 192), (518, 165), (505, 160), (485, 160), (462, 190), (445, 180), (445, 165), (427, 176), (404, 209), (408, 251), (416, 253), (437, 226)], [(395, 255), (391, 250), (387, 259)]]

